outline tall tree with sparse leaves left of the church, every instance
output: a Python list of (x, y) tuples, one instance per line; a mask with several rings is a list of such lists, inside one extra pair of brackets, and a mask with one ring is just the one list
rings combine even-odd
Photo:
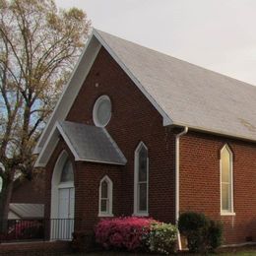
[(32, 177), (32, 149), (91, 30), (53, 0), (0, 0), (0, 230), (13, 182)]

